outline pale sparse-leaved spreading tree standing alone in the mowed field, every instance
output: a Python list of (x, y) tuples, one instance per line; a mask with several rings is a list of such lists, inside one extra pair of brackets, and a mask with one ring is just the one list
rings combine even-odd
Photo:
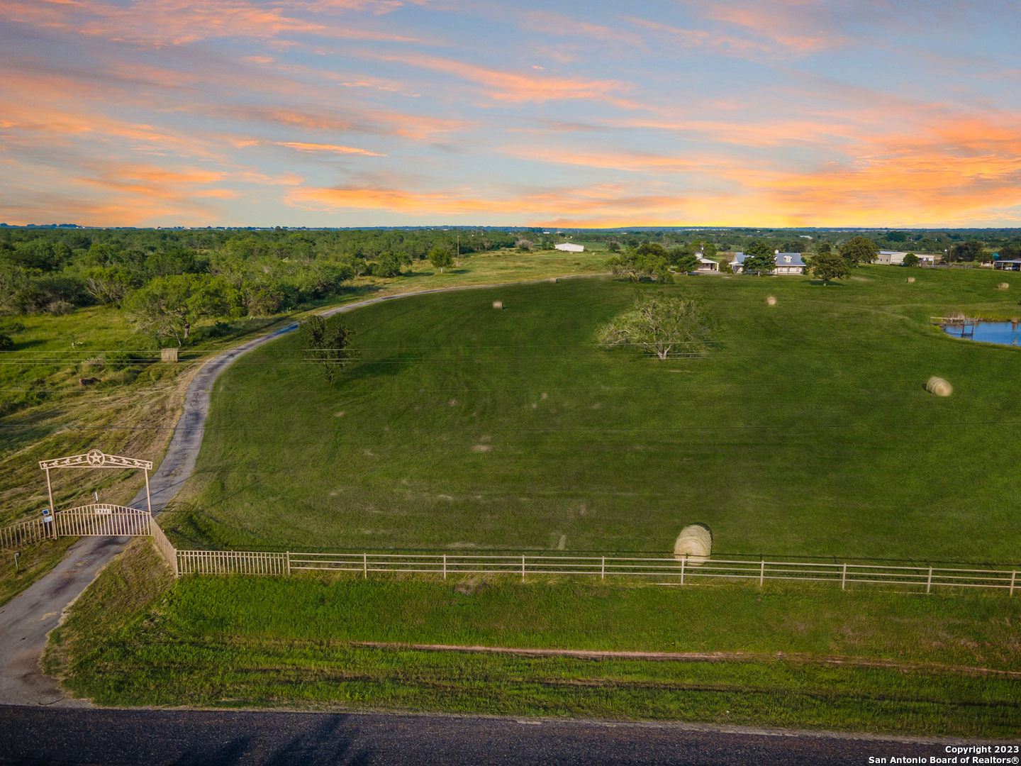
[[(712, 321), (693, 299), (639, 295), (632, 310), (599, 328), (599, 345), (638, 345), (666, 360), (675, 346), (681, 355), (696, 356), (706, 347)], [(676, 355), (676, 354), (675, 354)]]

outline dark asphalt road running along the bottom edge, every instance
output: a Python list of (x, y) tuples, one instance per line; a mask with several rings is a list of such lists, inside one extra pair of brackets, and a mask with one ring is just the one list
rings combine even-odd
[(947, 747), (961, 744), (684, 724), (0, 706), (0, 764), (859, 766), (870, 756), (929, 763), (953, 757)]

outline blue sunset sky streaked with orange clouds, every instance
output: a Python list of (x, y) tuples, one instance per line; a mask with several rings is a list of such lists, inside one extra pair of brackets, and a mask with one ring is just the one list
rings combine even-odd
[(1017, 0), (0, 0), (0, 221), (1021, 226)]

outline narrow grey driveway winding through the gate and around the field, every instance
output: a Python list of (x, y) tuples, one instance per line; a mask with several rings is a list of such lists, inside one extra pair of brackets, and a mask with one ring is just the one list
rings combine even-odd
[[(566, 278), (560, 277), (557, 279)], [(412, 295), (449, 290), (508, 287), (548, 281), (531, 280), (497, 285), (468, 285), (384, 295), (331, 308), (324, 312), (323, 316), (330, 317), (383, 300), (395, 300)], [(149, 479), (153, 514), (159, 513), (167, 502), (174, 499), (178, 490), (195, 470), (195, 459), (202, 446), (205, 419), (209, 414), (212, 385), (220, 374), (242, 354), (293, 332), (297, 327), (297, 325), (290, 325), (275, 330), (268, 335), (254, 338), (218, 353), (205, 363), (188, 386), (185, 393), (184, 413), (174, 428), (171, 445), (159, 464), (159, 468)], [(145, 490), (140, 490), (129, 505), (132, 508), (145, 510)], [(63, 560), (53, 571), (47, 573), (20, 595), (0, 607), (0, 703), (55, 707), (88, 706), (85, 701), (64, 699), (56, 682), (40, 671), (39, 659), (46, 647), (46, 636), (57, 626), (63, 611), (81, 595), (100, 570), (124, 549), (128, 541), (127, 537), (83, 537), (67, 549)]]

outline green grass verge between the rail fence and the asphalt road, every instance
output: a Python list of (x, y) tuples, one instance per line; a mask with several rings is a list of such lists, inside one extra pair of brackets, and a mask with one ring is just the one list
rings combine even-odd
[[(140, 540), (54, 631), (45, 666), (74, 695), (101, 705), (680, 719), (998, 737), (1021, 726), (1019, 619), (1016, 602), (978, 593), (841, 593), (804, 584), (174, 582)], [(358, 641), (740, 654), (716, 662), (580, 660)]]

